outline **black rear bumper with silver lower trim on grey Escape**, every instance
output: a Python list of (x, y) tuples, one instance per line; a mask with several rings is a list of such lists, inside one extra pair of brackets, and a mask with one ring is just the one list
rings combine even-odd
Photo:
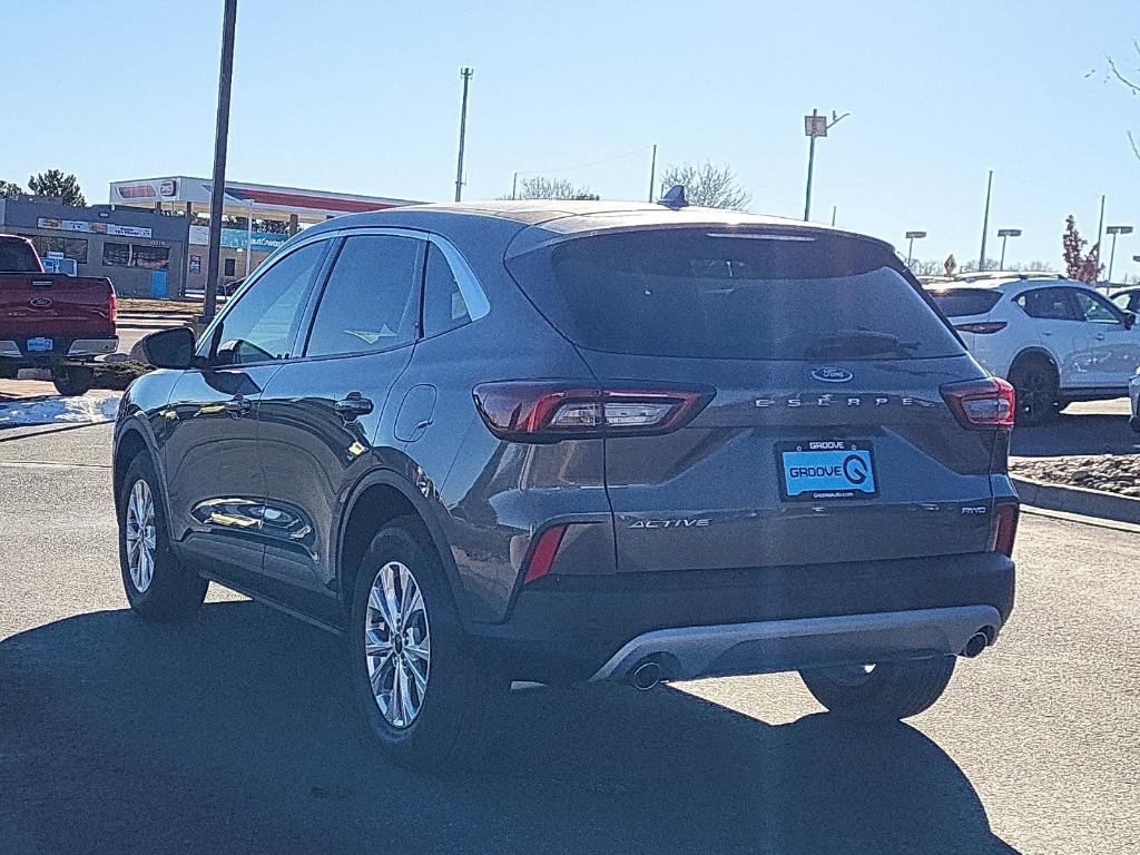
[[(690, 663), (677, 671), (684, 677), (711, 674), (702, 669), (714, 666), (722, 674), (759, 674), (813, 667), (823, 659), (838, 663), (837, 654), (866, 662), (874, 661), (865, 658), (872, 652), (882, 660), (956, 653), (983, 626), (992, 627), (991, 640), (996, 636), (1012, 611), (1013, 591), (1013, 562), (999, 553), (552, 576), (526, 586), (506, 621), (473, 624), (469, 632), (514, 679), (610, 678), (636, 663), (627, 661), (629, 650), (645, 651), (666, 637), (660, 652)], [(982, 614), (970, 612), (961, 632), (956, 622), (945, 624), (944, 610), (960, 606), (985, 608), (985, 620), (969, 626)], [(929, 629), (915, 629), (926, 624)], [(662, 630), (669, 635), (654, 635)], [(962, 633), (968, 633), (964, 640)], [(714, 637), (720, 641), (708, 641)], [(677, 646), (702, 648), (707, 654), (683, 658)], [(598, 676), (606, 667), (609, 675)], [(663, 665), (662, 671), (670, 676)]]

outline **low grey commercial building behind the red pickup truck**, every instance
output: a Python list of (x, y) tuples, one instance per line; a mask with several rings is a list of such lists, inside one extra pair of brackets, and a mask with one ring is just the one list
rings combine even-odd
[(0, 199), (0, 231), (31, 238), (41, 258), (74, 260), (78, 276), (106, 276), (123, 296), (182, 293), (188, 230), (185, 217), (154, 211)]

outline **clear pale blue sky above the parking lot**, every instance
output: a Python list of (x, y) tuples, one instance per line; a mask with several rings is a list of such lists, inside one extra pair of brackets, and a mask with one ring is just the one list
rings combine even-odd
[[(104, 202), (112, 180), (209, 174), (221, 5), (6, 5), (0, 178), (58, 166)], [(1133, 38), (1137, 0), (239, 0), (228, 174), (449, 199), (471, 65), (465, 198), (516, 170), (643, 198), (656, 142), (659, 164), (731, 164), (751, 210), (801, 215), (819, 107), (852, 115), (820, 142), (815, 219), (837, 205), (899, 246), (925, 229), (917, 255), (962, 262), (994, 169), (993, 231), (1025, 231), (1008, 259), (1059, 263), (1066, 214), (1094, 234), (1101, 193), (1140, 227), (1140, 98), (1105, 82), (1106, 54), (1140, 66)], [(1140, 236), (1116, 278), (1133, 254)]]

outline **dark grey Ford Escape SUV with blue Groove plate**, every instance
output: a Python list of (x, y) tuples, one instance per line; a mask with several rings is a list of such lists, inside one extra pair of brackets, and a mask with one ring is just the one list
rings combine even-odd
[(391, 756), (512, 681), (798, 670), (912, 716), (1013, 604), (1012, 389), (879, 241), (614, 203), (306, 229), (119, 410), (122, 579), (344, 633)]

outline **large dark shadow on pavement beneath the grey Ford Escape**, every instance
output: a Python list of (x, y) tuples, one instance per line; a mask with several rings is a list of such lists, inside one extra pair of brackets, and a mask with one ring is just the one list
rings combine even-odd
[(686, 693), (515, 692), (487, 760), (377, 758), (342, 642), (252, 602), (0, 643), (0, 849), (1010, 853), (904, 724), (773, 726)]

